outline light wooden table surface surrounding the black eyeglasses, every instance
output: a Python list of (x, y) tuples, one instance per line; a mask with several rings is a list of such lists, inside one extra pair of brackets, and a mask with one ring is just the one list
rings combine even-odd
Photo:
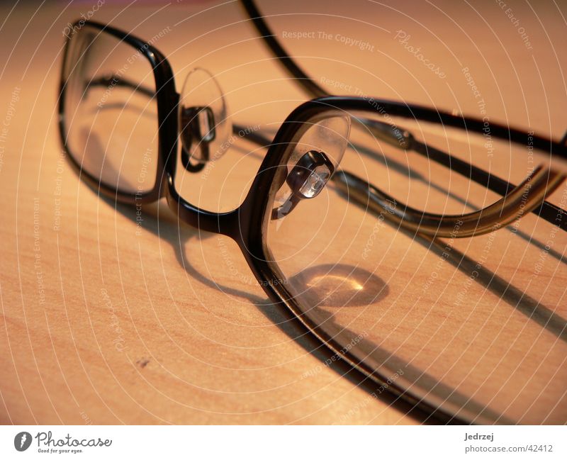
[[(296, 13), (274, 18), (282, 30), (340, 30), (368, 43), (361, 49), (336, 37), (280, 37), (330, 91), (480, 116), (465, 77), (470, 69), (492, 120), (554, 138), (567, 129), (564, 3), (283, 3), (261, 4), (266, 13)], [(305, 100), (235, 1), (106, 1), (93, 12), (94, 4), (0, 6), (0, 422), (425, 421), (386, 393), (371, 397), (372, 386), (345, 376), (346, 366), (323, 365), (327, 352), (269, 304), (235, 243), (178, 225), (164, 203), (145, 209), (136, 235), (135, 208), (99, 198), (79, 180), (62, 154), (56, 107), (62, 30), (81, 13), (146, 40), (161, 33), (153, 45), (171, 60), (177, 88), (189, 69), (209, 69), (242, 125), (273, 133)], [(314, 12), (325, 16), (305, 14)], [(410, 45), (422, 48), (433, 71)], [(186, 193), (201, 206), (234, 208), (257, 164), (219, 168), (222, 186), (194, 181)], [(566, 190), (551, 200), (561, 203)], [(549, 228), (534, 229), (546, 241)], [(508, 254), (525, 245), (510, 235), (498, 241), (510, 242)], [(566, 242), (562, 235), (555, 241), (560, 256)], [(483, 242), (459, 249), (478, 259)], [(411, 245), (403, 257), (422, 252)], [(529, 254), (532, 263), (538, 254)], [(495, 267), (521, 288), (531, 275), (515, 271), (522, 262), (503, 257)], [(551, 274), (561, 288), (537, 298), (565, 318), (566, 272)], [(556, 346), (564, 356), (565, 344)], [(563, 399), (560, 406), (552, 421), (566, 417)]]

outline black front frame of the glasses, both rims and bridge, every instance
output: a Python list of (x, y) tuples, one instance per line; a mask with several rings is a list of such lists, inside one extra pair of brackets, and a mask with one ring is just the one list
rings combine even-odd
[[(83, 21), (81, 21), (83, 22)], [(126, 204), (149, 204), (158, 201), (160, 198), (166, 198), (169, 208), (172, 209), (179, 219), (184, 223), (191, 225), (193, 228), (205, 230), (208, 232), (226, 235), (237, 242), (242, 253), (245, 256), (250, 269), (264, 288), (264, 291), (270, 300), (276, 305), (284, 305), (293, 315), (301, 322), (306, 330), (317, 337), (322, 343), (326, 344), (332, 352), (336, 353), (344, 361), (349, 363), (357, 371), (361, 371), (376, 383), (383, 385), (386, 383), (387, 376), (376, 374), (376, 369), (367, 366), (364, 361), (353, 357), (349, 352), (342, 352), (342, 344), (335, 340), (330, 334), (315, 324), (310, 318), (303, 313), (301, 306), (296, 301), (293, 293), (288, 291), (286, 284), (281, 282), (282, 275), (279, 267), (271, 257), (271, 252), (267, 245), (267, 223), (271, 215), (271, 207), (274, 203), (274, 195), (279, 189), (279, 182), (276, 180), (277, 175), (281, 176), (282, 167), (286, 167), (288, 156), (291, 155), (293, 149), (289, 149), (290, 141), (296, 138), (298, 132), (310, 123), (310, 120), (322, 116), (326, 112), (345, 112), (352, 111), (372, 111), (374, 108), (376, 113), (378, 109), (369, 105), (365, 99), (344, 96), (325, 96), (319, 99), (313, 99), (302, 103), (298, 106), (283, 122), (281, 128), (277, 131), (274, 140), (268, 147), (268, 152), (257, 175), (252, 182), (252, 186), (247, 193), (242, 204), (233, 211), (226, 213), (215, 213), (205, 211), (201, 208), (193, 206), (186, 201), (176, 191), (174, 177), (176, 173), (176, 155), (178, 142), (178, 111), (179, 94), (176, 92), (174, 84), (174, 75), (172, 67), (164, 55), (152, 45), (135, 38), (130, 33), (125, 33), (116, 28), (106, 26), (95, 21), (85, 21), (79, 27), (77, 21), (75, 33), (81, 33), (82, 28), (90, 26), (108, 33), (122, 40), (124, 43), (135, 47), (150, 62), (155, 77), (157, 99), (157, 118), (158, 118), (158, 158), (157, 158), (157, 175), (155, 186), (152, 191), (147, 193), (128, 193), (120, 191), (99, 180), (96, 176), (82, 170), (81, 164), (68, 150), (66, 142), (66, 128), (64, 125), (64, 99), (66, 82), (64, 74), (60, 81), (60, 99), (59, 99), (59, 127), (64, 152), (67, 154), (69, 161), (79, 176), (82, 177), (94, 189), (98, 189), (100, 193), (109, 198), (114, 198), (120, 203)], [(75, 29), (74, 29), (75, 30)], [(67, 37), (65, 47), (63, 69), (67, 68), (67, 60), (69, 59), (69, 41), (72, 40), (74, 34)], [(64, 71), (63, 71), (64, 72)], [(468, 118), (454, 116), (450, 113), (433, 110), (423, 106), (408, 105), (395, 101), (386, 101), (375, 99), (383, 110), (391, 116), (405, 116), (417, 120), (442, 123), (454, 128), (463, 128), (476, 133), (483, 133), (483, 120), (478, 118)], [(492, 124), (492, 135), (495, 138), (510, 140), (512, 142), (528, 142), (528, 134), (506, 127), (504, 125)], [(534, 148), (541, 148), (551, 152), (563, 159), (567, 159), (567, 149), (561, 144), (552, 140), (541, 138), (533, 135), (529, 138)], [(458, 410), (455, 408), (445, 407), (442, 402), (434, 405), (424, 400), (424, 395), (415, 388), (409, 389), (411, 383), (403, 383), (403, 377), (398, 378), (393, 383), (388, 383), (387, 388), (391, 393), (402, 396), (410, 403), (415, 403), (421, 408), (425, 408), (437, 416), (444, 415), (449, 420), (460, 419), (456, 416)], [(461, 420), (467, 420), (463, 417)]]

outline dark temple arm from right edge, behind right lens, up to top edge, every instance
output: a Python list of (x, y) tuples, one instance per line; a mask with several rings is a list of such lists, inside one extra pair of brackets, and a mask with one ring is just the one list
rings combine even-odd
[[(301, 67), (299, 67), (295, 61), (293, 61), (290, 55), (288, 55), (288, 52), (286, 52), (286, 50), (280, 45), (278, 40), (276, 40), (276, 35), (274, 35), (273, 31), (269, 28), (266, 21), (264, 21), (264, 17), (262, 16), (262, 13), (260, 13), (260, 11), (257, 9), (254, 1), (241, 0), (241, 3), (247, 11), (249, 18), (252, 20), (254, 27), (257, 29), (258, 33), (265, 41), (266, 45), (268, 45), (271, 52), (279, 59), (279, 62), (283, 64), (283, 67), (285, 67), (287, 71), (295, 79), (297, 79), (298, 84), (300, 84), (310, 96), (329, 96), (329, 93), (325, 91), (325, 89), (319, 86), (311, 77), (308, 76), (308, 74), (305, 74), (305, 72), (303, 72)], [(391, 133), (387, 133), (388, 128), (390, 128), (387, 123), (381, 123), (376, 120), (361, 120), (361, 123), (369, 128), (372, 133), (376, 135), (376, 137), (381, 138), (382, 140), (386, 140), (386, 142), (388, 142), (388, 139), (393, 139)], [(383, 134), (383, 137), (381, 137), (380, 134)], [(390, 143), (392, 145), (395, 145), (395, 142)], [(399, 142), (397, 143), (398, 147), (405, 148), (403, 145), (400, 145)], [(567, 144), (567, 133), (564, 136), (562, 143), (564, 145)], [(510, 193), (510, 191), (515, 189), (515, 186), (513, 184), (510, 184), (510, 182), (505, 181), (504, 179), (500, 179), (498, 176), (494, 176), (493, 174), (485, 172), (483, 169), (474, 167), (472, 164), (451, 157), (451, 155), (447, 154), (446, 152), (433, 149), (428, 145), (415, 141), (412, 142), (411, 147), (412, 150), (419, 153), (420, 155), (426, 155), (427, 157), (430, 157), (430, 159), (432, 159), (434, 162), (450, 167), (455, 172), (468, 177), (478, 184), (486, 186), (488, 189), (495, 193), (498, 193), (499, 195), (505, 196), (506, 193)], [(561, 230), (567, 230), (567, 212), (547, 201), (544, 201), (540, 206), (532, 209), (532, 213), (539, 215), (540, 218), (547, 220), (549, 223), (558, 225)]]

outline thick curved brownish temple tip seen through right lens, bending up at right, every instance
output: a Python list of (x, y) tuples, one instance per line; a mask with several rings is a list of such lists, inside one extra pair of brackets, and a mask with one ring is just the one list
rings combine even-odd
[(348, 199), (370, 208), (406, 230), (432, 237), (464, 238), (492, 232), (522, 218), (522, 215), (544, 201), (546, 195), (565, 180), (565, 176), (537, 167), (504, 198), (481, 211), (462, 215), (423, 213), (403, 204), (398, 205), (387, 193), (346, 171), (337, 171), (332, 180)]

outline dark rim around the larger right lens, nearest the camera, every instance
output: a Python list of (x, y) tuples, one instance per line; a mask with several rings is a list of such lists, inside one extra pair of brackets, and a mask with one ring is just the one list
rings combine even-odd
[[(420, 116), (419, 118), (424, 121), (432, 121), (436, 118), (440, 118), (444, 122), (447, 122), (447, 125), (459, 128), (461, 125), (466, 124), (467, 128), (473, 130), (476, 128), (478, 132), (482, 133), (482, 120), (461, 118), (430, 108), (408, 106), (393, 101), (380, 102), (383, 103), (383, 106), (390, 109), (391, 113), (399, 115), (400, 113), (411, 112), (418, 114)], [(291, 151), (293, 150), (286, 149), (286, 145), (288, 145), (290, 140), (296, 138), (296, 133), (301, 129), (303, 123), (313, 118), (318, 118), (323, 111), (331, 111), (332, 113), (336, 113), (337, 110), (346, 112), (359, 111), (364, 108), (365, 105), (367, 106), (366, 101), (360, 98), (327, 96), (301, 104), (301, 106), (298, 106), (298, 108), (288, 116), (276, 133), (264, 158), (264, 162), (262, 162), (259, 174), (254, 180), (254, 184), (245, 202), (242, 204), (242, 213), (245, 215), (245, 220), (243, 220), (242, 223), (247, 225), (247, 227), (243, 228), (244, 233), (242, 235), (247, 235), (247, 242), (244, 238), (241, 238), (237, 240), (237, 243), (240, 245), (249, 267), (262, 284), (262, 288), (264, 288), (264, 291), (268, 294), (271, 301), (276, 304), (285, 305), (306, 330), (326, 344), (333, 353), (344, 359), (344, 361), (347, 361), (350, 366), (360, 371), (361, 374), (364, 374), (378, 385), (384, 385), (384, 383), (388, 381), (386, 374), (378, 374), (377, 369), (373, 369), (366, 361), (357, 359), (352, 353), (352, 349), (347, 349), (345, 352), (342, 342), (338, 342), (336, 337), (322, 329), (322, 327), (316, 324), (308, 315), (305, 315), (305, 311), (301, 308), (301, 305), (298, 303), (295, 296), (293, 296), (293, 293), (288, 290), (285, 283), (280, 281), (284, 276), (278, 264), (274, 261), (274, 257), (271, 256), (267, 241), (267, 223), (271, 215), (274, 194), (277, 190), (275, 176), (278, 174), (279, 167), (286, 164), (286, 156), (291, 155)], [(528, 135), (521, 130), (515, 130), (503, 125), (494, 126), (494, 137), (497, 138), (500, 137), (505, 140), (517, 141), (524, 139), (524, 137)], [(552, 140), (534, 136), (533, 142), (534, 145), (539, 146), (552, 145), (551, 148), (553, 150), (561, 152), (561, 155), (566, 154), (567, 149)], [(286, 150), (287, 155), (284, 153)], [(262, 186), (262, 184), (264, 184), (264, 186)], [(269, 189), (268, 186), (270, 186), (271, 189)], [(259, 198), (252, 199), (257, 193), (259, 193), (257, 195)], [(249, 220), (249, 218), (252, 218), (252, 220)], [(242, 235), (238, 236), (242, 237)], [(451, 401), (432, 398), (431, 395), (424, 394), (420, 391), (420, 388), (416, 388), (415, 385), (412, 385), (410, 381), (405, 382), (404, 378), (398, 378), (394, 383), (388, 383), (388, 391), (408, 400), (410, 403), (415, 403), (415, 405), (430, 411), (430, 413), (437, 414), (437, 417), (447, 418), (447, 420), (458, 420), (467, 423), (490, 423), (494, 422), (494, 420), (498, 420), (501, 423), (511, 422), (500, 415), (491, 416), (490, 410), (488, 409), (486, 409), (484, 413), (475, 413), (462, 407), (456, 407)]]

